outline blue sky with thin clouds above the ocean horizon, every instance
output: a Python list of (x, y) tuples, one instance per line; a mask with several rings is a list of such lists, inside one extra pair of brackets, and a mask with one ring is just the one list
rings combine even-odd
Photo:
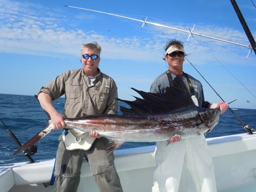
[[(236, 0), (256, 38), (256, 7)], [(256, 0), (253, 0), (256, 3)], [(184, 43), (188, 60), (231, 108), (256, 109), (256, 56), (249, 49), (188, 33), (145, 25), (102, 13), (148, 22), (249, 45), (229, 0), (0, 0), (0, 93), (34, 95), (58, 74), (81, 67), (80, 46), (102, 46), (100, 69), (115, 79), (121, 99), (133, 100), (130, 88), (149, 91), (166, 71), (162, 60), (168, 40)], [(188, 61), (183, 70), (203, 84), (205, 99), (221, 101)], [(250, 101), (249, 103), (246, 101)]]

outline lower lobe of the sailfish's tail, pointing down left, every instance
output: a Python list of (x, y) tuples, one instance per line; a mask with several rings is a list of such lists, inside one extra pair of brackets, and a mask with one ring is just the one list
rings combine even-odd
[(53, 125), (48, 123), (48, 126), (39, 131), (35, 136), (33, 136), (29, 141), (27, 141), (23, 146), (21, 146), (17, 151), (13, 153), (13, 155), (17, 155), (20, 152), (24, 151), (28, 147), (32, 146), (36, 142), (38, 142), (43, 137), (47, 136), (50, 132), (54, 130)]

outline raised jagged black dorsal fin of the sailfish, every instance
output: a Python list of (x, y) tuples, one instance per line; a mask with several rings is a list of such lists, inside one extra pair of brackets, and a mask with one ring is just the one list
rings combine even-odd
[(140, 94), (141, 98), (135, 97), (135, 101), (123, 101), (130, 106), (126, 108), (120, 106), (123, 114), (160, 114), (185, 108), (194, 105), (190, 92), (186, 87), (183, 79), (176, 76), (173, 79), (173, 86), (167, 87), (165, 93), (149, 93), (131, 88)]

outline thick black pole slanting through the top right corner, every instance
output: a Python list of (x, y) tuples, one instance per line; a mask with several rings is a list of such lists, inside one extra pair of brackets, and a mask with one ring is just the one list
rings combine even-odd
[[(242, 24), (242, 26), (244, 28), (244, 32), (246, 33), (246, 36), (247, 36), (247, 38), (248, 38), (248, 40), (249, 40), (249, 42), (251, 44), (251, 48), (253, 49), (253, 51), (254, 51), (254, 53), (256, 55), (256, 42), (255, 42), (255, 40), (253, 38), (253, 35), (251, 34), (251, 31), (250, 31), (248, 25), (246, 24), (246, 22), (244, 20), (244, 17), (242, 15), (242, 13), (241, 13), (241, 11), (240, 11), (236, 1), (235, 0), (230, 0), (230, 2), (232, 3), (232, 5), (234, 7), (234, 10), (236, 12), (236, 15), (238, 16), (239, 21), (241, 22), (241, 24)], [(254, 7), (255, 7), (255, 5), (254, 5)]]

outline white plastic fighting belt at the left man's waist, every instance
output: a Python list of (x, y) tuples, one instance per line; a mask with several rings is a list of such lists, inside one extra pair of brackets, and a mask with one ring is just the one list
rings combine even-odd
[(88, 133), (75, 137), (71, 131), (67, 132), (67, 134), (63, 134), (62, 136), (67, 150), (89, 150), (96, 139), (95, 137), (91, 137)]

